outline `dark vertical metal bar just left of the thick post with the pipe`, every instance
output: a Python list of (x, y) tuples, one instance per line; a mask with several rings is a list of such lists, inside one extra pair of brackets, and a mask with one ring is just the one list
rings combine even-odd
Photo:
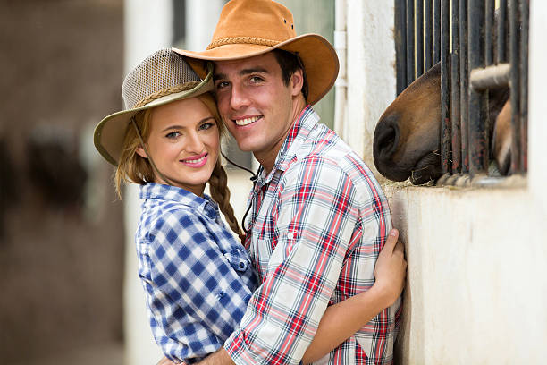
[(467, 59), (467, 0), (459, 0), (459, 47), (461, 172), (466, 174), (469, 172), (469, 79)]

